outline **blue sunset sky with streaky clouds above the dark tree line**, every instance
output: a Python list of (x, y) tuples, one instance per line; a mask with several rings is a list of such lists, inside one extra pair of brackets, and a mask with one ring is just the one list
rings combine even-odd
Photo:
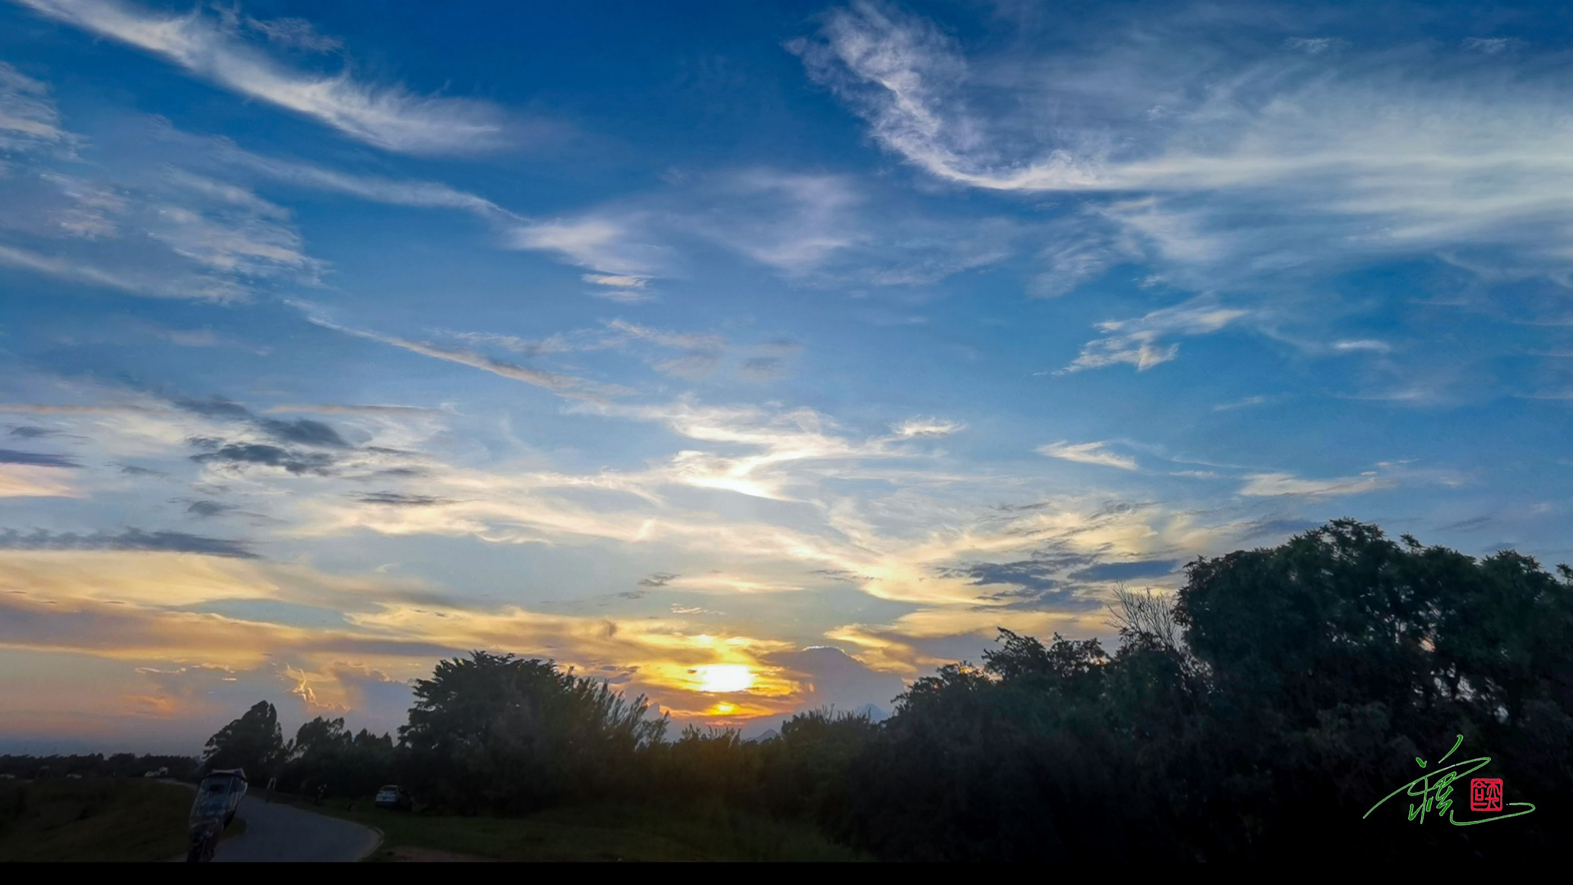
[(0, 0), (0, 751), (1573, 559), (1570, 87), (1562, 5)]

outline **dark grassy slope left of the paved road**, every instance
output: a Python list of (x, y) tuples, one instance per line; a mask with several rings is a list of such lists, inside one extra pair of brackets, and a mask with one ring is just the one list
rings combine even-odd
[(0, 781), (0, 861), (167, 860), (186, 854), (190, 806), (190, 789), (142, 778)]

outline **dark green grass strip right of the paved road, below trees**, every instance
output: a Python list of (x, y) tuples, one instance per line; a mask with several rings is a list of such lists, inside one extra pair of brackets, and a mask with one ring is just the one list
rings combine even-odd
[(588, 805), (527, 817), (458, 817), (387, 811), (365, 800), (348, 805), (304, 808), (382, 830), (382, 846), (367, 860), (867, 860), (813, 827), (736, 811)]

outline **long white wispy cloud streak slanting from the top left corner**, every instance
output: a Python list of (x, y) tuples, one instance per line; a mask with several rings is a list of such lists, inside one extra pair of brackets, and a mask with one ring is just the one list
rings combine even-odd
[[(42, 16), (159, 55), (197, 77), (384, 150), (462, 154), (505, 143), (503, 115), (486, 102), (365, 83), (348, 69), (332, 76), (294, 69), (238, 39), (201, 8), (167, 16), (115, 0), (20, 2)], [(277, 24), (272, 30), (288, 33)], [(299, 36), (299, 28), (294, 33)]]

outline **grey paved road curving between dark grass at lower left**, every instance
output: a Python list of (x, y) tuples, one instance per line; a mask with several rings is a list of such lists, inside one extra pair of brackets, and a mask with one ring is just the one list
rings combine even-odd
[(245, 833), (219, 842), (214, 863), (351, 861), (371, 854), (382, 839), (370, 827), (253, 795), (241, 800), (236, 817), (245, 820)]

